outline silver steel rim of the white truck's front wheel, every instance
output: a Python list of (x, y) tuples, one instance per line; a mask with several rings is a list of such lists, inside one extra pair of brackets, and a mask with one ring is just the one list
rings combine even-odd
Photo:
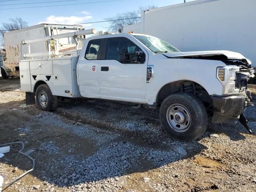
[(191, 116), (187, 108), (181, 104), (172, 104), (166, 112), (169, 126), (176, 132), (185, 132), (191, 123)]

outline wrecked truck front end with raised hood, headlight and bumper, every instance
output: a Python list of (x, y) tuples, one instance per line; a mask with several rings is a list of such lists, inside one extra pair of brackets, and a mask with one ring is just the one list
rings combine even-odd
[(216, 72), (223, 87), (223, 95), (211, 96), (210, 106), (207, 106), (213, 112), (212, 122), (235, 123), (239, 120), (252, 133), (243, 115), (246, 107), (253, 106), (251, 92), (247, 88), (248, 81), (254, 78), (250, 60), (240, 53), (230, 51), (175, 52), (163, 55), (173, 59), (218, 60), (225, 63), (226, 66), (218, 67)]

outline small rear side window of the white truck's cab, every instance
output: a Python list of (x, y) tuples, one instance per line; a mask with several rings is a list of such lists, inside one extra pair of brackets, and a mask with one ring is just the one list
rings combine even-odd
[(91, 40), (86, 48), (85, 58), (88, 60), (97, 60), (99, 49), (101, 46), (101, 40)]

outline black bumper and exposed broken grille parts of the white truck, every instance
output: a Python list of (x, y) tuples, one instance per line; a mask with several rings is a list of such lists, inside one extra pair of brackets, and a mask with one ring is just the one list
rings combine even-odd
[(227, 66), (237, 66), (239, 70), (235, 72), (234, 94), (230, 96), (212, 96), (214, 113), (212, 122), (236, 122), (239, 120), (241, 124), (252, 133), (248, 125), (248, 121), (243, 115), (244, 110), (248, 106), (253, 106), (252, 96), (248, 90), (248, 81), (254, 78), (254, 70), (246, 59), (222, 59)]

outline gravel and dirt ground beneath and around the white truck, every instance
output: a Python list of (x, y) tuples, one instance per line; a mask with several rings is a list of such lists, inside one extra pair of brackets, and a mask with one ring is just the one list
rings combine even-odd
[[(256, 191), (256, 136), (240, 123), (210, 123), (198, 140), (178, 142), (158, 110), (65, 99), (42, 112), (19, 87), (0, 79), (0, 144), (23, 141), (36, 166), (6, 192)], [(256, 132), (256, 106), (245, 116)], [(32, 167), (19, 149), (0, 158), (5, 182)]]

